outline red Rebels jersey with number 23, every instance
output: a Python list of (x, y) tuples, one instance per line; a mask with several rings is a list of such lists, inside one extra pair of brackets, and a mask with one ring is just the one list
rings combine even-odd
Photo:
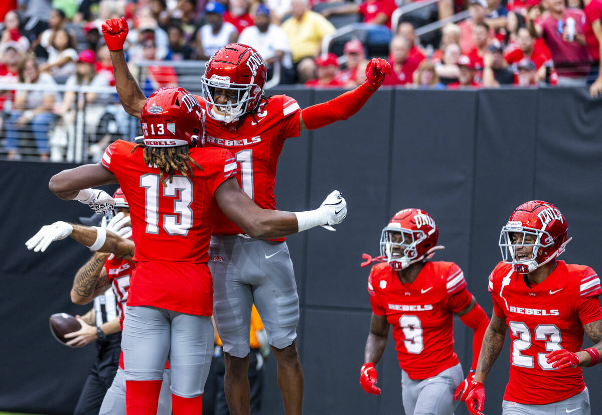
[(539, 284), (527, 286), (512, 264), (498, 263), (489, 276), (494, 313), (510, 332), (510, 377), (505, 401), (545, 405), (563, 401), (585, 388), (581, 367), (552, 369), (545, 355), (578, 352), (583, 325), (602, 318), (600, 279), (588, 266), (557, 261)]

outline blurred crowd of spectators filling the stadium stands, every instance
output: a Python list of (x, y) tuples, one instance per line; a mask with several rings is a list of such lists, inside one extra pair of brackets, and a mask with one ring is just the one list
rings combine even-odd
[[(0, 6), (0, 84), (114, 86), (101, 25), (125, 16), (131, 28), (125, 45), (128, 62), (154, 61), (140, 80), (146, 96), (159, 87), (182, 84), (175, 61), (206, 61), (237, 41), (256, 48), (268, 64), (268, 79), (277, 69), (280, 84), (353, 88), (364, 81), (368, 58), (388, 54), (393, 75), (386, 76), (385, 86), (589, 84), (592, 96), (602, 91), (602, 0), (440, 0), (430, 5), (429, 19), (410, 12), (392, 21), (400, 5), (400, 0), (8, 0)], [(463, 9), (470, 13), (468, 19), (442, 25), (440, 34), (424, 36), (421, 44), (417, 27)], [(351, 39), (338, 48), (341, 56), (332, 53), (335, 47), (321, 50), (324, 36), (337, 31), (332, 22), (342, 15), (379, 25), (390, 42), (374, 49)], [(202, 68), (199, 62), (196, 69)], [(48, 88), (0, 92), (0, 136), (5, 137), (7, 158), (20, 158), (17, 143), (26, 129), (40, 159), (48, 160), (49, 126), (58, 125), (63, 136), (72, 138), (84, 102), (85, 134), (96, 134), (88, 152), (98, 158), (111, 140), (107, 107), (108, 120), (120, 124), (120, 117), (126, 117), (114, 95), (61, 95)], [(99, 120), (104, 120), (101, 133)]]

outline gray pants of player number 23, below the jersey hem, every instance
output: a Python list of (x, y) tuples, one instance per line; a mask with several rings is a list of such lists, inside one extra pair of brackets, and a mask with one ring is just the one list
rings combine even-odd
[(589, 392), (585, 388), (564, 401), (547, 405), (526, 405), (518, 402), (502, 401), (501, 413), (503, 415), (589, 415)]

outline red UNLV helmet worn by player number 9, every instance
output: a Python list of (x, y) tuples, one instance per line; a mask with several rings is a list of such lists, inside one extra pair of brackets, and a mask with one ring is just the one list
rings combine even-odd
[[(394, 242), (394, 234), (401, 234)], [(404, 209), (397, 212), (380, 235), (380, 255), (394, 270), (407, 268), (410, 264), (426, 260), (434, 255), (439, 231), (435, 220), (420, 209)]]

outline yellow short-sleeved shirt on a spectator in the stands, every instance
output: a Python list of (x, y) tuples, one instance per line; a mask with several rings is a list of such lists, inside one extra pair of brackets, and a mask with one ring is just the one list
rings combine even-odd
[(310, 10), (305, 11), (300, 20), (295, 16), (285, 20), (282, 29), (287, 33), (294, 63), (317, 56), (322, 38), (336, 31), (326, 17)]

